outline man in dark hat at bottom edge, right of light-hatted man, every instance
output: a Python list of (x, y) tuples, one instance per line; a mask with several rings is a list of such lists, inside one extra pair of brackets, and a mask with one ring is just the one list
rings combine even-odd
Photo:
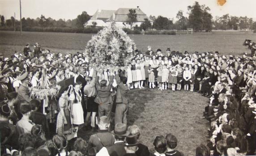
[(126, 154), (124, 156), (137, 156), (135, 153), (138, 149), (139, 143), (137, 142), (137, 137), (135, 135), (128, 135), (126, 137), (125, 151)]

